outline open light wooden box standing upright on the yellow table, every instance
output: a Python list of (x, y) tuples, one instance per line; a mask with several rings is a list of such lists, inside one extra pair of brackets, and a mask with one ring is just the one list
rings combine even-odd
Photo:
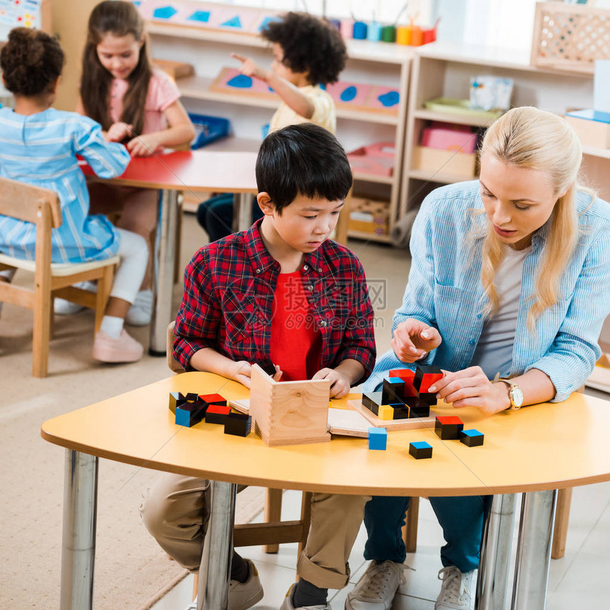
[(330, 379), (276, 382), (252, 367), (250, 415), (267, 445), (299, 445), (331, 440), (328, 433)]

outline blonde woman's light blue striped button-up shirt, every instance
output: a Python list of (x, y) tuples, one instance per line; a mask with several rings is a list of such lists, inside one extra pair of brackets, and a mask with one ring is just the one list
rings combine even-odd
[[(487, 217), (472, 214), (482, 209), (478, 181), (450, 184), (426, 197), (414, 223), (409, 282), (392, 332), (406, 318), (437, 328), (443, 343), (424, 364), (458, 371), (469, 367), (475, 355), (488, 301), (481, 284), (483, 238), (477, 236), (484, 234)], [(601, 355), (601, 325), (610, 311), (610, 205), (581, 192), (577, 211), (581, 235), (561, 279), (560, 300), (537, 319), (535, 336), (526, 321), (550, 221), (533, 234), (523, 263), (511, 370), (503, 372), (511, 377), (532, 368), (545, 372), (555, 385), (553, 401), (565, 400), (591, 374)], [(363, 389), (374, 389), (389, 370), (404, 366), (389, 350), (377, 359)]]

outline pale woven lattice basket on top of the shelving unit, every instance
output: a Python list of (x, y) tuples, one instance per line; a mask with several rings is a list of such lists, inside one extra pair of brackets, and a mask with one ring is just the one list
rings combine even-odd
[(610, 59), (610, 10), (581, 4), (538, 2), (531, 64), (594, 73), (595, 60)]

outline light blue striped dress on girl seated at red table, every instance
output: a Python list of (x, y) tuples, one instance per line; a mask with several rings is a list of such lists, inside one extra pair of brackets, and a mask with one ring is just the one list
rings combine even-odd
[[(52, 231), (52, 262), (103, 260), (116, 254), (118, 234), (101, 214), (89, 216), (89, 192), (76, 155), (102, 178), (123, 173), (129, 153), (106, 143), (101, 127), (74, 112), (47, 109), (30, 116), (0, 109), (0, 176), (52, 189), (60, 197), (62, 225)], [(36, 229), (0, 215), (0, 251), (34, 260)]]

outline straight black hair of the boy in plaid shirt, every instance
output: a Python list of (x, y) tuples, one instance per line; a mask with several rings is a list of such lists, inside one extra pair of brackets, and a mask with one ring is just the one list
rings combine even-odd
[(297, 196), (345, 199), (352, 170), (345, 150), (328, 130), (314, 123), (289, 125), (267, 135), (256, 159), (258, 192), (269, 194), (278, 214)]

